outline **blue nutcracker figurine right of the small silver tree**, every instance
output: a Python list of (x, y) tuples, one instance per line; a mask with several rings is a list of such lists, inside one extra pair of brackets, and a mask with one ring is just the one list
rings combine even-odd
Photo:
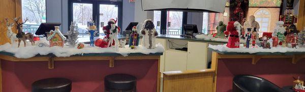
[(89, 26), (88, 26), (88, 32), (89, 32), (89, 35), (90, 35), (90, 46), (94, 46), (94, 37), (96, 35), (97, 32), (97, 27), (94, 25), (94, 21), (91, 21), (89, 23)]

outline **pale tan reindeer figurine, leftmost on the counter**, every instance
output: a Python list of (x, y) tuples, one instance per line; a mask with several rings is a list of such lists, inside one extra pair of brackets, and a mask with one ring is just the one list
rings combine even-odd
[(13, 27), (14, 23), (9, 23), (8, 18), (5, 18), (5, 20), (7, 22), (7, 28), (8, 28), (7, 36), (11, 40), (11, 44), (13, 44), (17, 40), (16, 34), (12, 32), (12, 27)]

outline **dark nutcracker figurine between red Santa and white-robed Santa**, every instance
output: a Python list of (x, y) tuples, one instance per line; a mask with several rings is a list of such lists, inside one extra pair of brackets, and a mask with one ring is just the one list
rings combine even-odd
[(135, 46), (138, 46), (139, 39), (140, 39), (140, 37), (138, 34), (138, 29), (136, 26), (133, 26), (132, 33), (130, 35), (130, 40), (129, 40), (129, 47), (131, 47), (133, 49)]

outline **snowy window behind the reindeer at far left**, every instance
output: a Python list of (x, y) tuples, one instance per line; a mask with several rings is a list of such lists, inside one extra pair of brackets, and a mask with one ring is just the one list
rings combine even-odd
[(22, 0), (22, 20), (26, 17), (23, 32), (35, 34), (39, 25), (46, 22), (45, 0)]

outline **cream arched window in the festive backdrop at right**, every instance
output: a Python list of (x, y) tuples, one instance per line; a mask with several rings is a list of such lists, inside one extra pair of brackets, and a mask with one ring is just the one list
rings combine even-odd
[(268, 32), (270, 25), (270, 13), (266, 8), (258, 9), (255, 14), (255, 20), (259, 23), (259, 35), (262, 36), (263, 32)]

